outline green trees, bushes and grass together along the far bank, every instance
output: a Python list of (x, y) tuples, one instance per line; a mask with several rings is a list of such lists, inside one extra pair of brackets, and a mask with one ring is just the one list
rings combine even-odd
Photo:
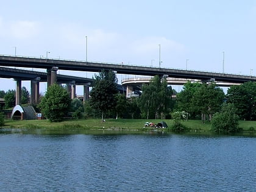
[[(15, 101), (15, 94), (9, 92), (5, 94), (5, 98), (8, 101)], [(24, 98), (27, 98), (27, 91), (23, 92), (26, 92)], [(215, 82), (188, 81), (183, 90), (176, 94), (177, 99), (172, 99), (171, 96), (175, 92), (168, 86), (165, 77), (155, 76), (149, 84), (142, 85), (141, 91), (137, 91), (135, 97), (126, 98), (124, 92), (117, 89), (115, 73), (101, 71), (94, 76), (88, 101), (71, 101), (67, 89), (55, 84), (49, 87), (45, 96), (41, 98), (41, 103), (35, 106), (43, 112), (49, 122), (21, 121), (16, 124), (16, 121), (5, 121), (5, 124), (10, 127), (39, 126), (53, 129), (62, 126), (80, 129), (142, 129), (145, 121), (158, 123), (165, 119), (169, 125), (168, 129), (177, 132), (236, 132), (256, 129), (256, 82), (231, 86), (227, 94), (224, 94)], [(7, 107), (12, 102), (7, 102)], [(231, 108), (227, 107), (231, 105)], [(73, 120), (65, 120), (68, 118)]]

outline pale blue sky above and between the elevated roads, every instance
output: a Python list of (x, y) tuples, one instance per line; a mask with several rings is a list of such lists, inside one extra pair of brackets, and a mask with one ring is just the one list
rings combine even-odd
[[(163, 68), (256, 74), (256, 0), (0, 2), (3, 55), (85, 60), (87, 36), (91, 62), (157, 67), (161, 54)], [(0, 90), (12, 89), (13, 79), (0, 79)]]

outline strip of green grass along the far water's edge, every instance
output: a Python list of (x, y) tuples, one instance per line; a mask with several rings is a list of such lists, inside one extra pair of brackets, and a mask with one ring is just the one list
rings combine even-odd
[[(6, 128), (27, 128), (27, 129), (112, 129), (112, 130), (144, 130), (151, 129), (144, 127), (144, 123), (152, 122), (158, 123), (162, 119), (106, 119), (102, 122), (101, 119), (73, 119), (57, 123), (50, 123), (48, 120), (24, 120), (24, 121), (5, 121), (4, 127)], [(164, 120), (169, 127), (172, 126), (172, 119)], [(202, 123), (200, 120), (183, 121), (185, 126), (189, 127), (191, 131), (210, 131), (211, 123)], [(240, 121), (239, 127), (244, 131), (256, 130), (256, 121)]]

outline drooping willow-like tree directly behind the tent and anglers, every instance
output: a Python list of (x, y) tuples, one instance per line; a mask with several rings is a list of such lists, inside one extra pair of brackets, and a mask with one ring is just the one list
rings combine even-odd
[(165, 78), (155, 76), (149, 84), (144, 84), (138, 101), (143, 118), (165, 116), (171, 109), (172, 89)]

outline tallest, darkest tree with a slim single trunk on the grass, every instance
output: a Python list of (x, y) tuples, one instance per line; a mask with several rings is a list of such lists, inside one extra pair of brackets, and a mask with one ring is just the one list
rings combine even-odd
[(101, 71), (94, 76), (90, 104), (91, 107), (102, 113), (102, 121), (104, 113), (116, 107), (116, 93), (118, 93), (117, 79), (113, 71)]

